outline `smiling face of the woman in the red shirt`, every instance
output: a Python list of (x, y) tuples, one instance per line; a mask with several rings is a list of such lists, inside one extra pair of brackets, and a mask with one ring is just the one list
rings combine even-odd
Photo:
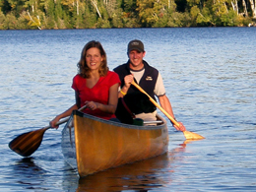
[(98, 70), (102, 60), (103, 57), (100, 55), (100, 51), (98, 48), (92, 47), (87, 50), (86, 61), (87, 66), (91, 70)]

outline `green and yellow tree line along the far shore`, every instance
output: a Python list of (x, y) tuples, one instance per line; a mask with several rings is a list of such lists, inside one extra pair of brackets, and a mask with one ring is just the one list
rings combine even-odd
[(0, 30), (244, 27), (256, 0), (0, 0)]

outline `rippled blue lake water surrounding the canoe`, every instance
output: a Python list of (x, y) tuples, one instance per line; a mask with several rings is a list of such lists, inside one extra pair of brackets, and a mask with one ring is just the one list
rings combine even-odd
[[(8, 148), (74, 103), (85, 43), (99, 40), (112, 70), (134, 38), (178, 121), (206, 139), (187, 143), (168, 122), (168, 153), (85, 178), (62, 157), (63, 126), (45, 132), (32, 158)], [(255, 47), (256, 28), (0, 31), (0, 191), (255, 191)]]

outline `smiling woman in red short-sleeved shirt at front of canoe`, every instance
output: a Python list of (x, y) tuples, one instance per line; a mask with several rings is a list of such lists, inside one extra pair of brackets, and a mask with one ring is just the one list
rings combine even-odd
[(119, 76), (108, 70), (105, 51), (98, 41), (88, 42), (82, 50), (78, 63), (79, 73), (73, 78), (76, 103), (50, 121), (52, 127), (73, 110), (84, 105), (83, 112), (103, 119), (116, 119)]

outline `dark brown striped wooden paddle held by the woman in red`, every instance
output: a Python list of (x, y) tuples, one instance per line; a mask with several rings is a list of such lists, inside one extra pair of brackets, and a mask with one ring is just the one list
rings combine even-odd
[[(83, 110), (84, 108), (86, 108), (86, 105), (81, 107), (79, 110)], [(66, 117), (65, 119), (57, 122), (56, 125), (63, 124), (68, 120), (69, 117)], [(30, 131), (17, 136), (9, 143), (9, 148), (23, 157), (29, 157), (39, 148), (43, 134), (49, 128), (52, 127), (48, 125), (41, 129)]]

